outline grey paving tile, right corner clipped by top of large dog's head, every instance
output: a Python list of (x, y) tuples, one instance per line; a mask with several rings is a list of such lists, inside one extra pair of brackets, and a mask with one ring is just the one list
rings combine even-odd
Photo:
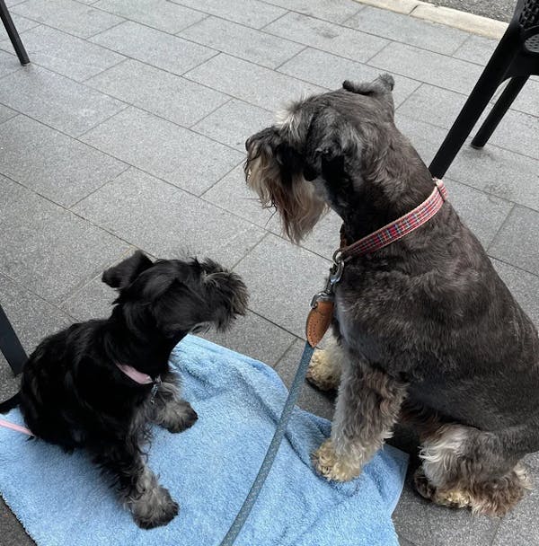
[(270, 111), (305, 94), (324, 91), (322, 87), (224, 53), (191, 70), (185, 77)]

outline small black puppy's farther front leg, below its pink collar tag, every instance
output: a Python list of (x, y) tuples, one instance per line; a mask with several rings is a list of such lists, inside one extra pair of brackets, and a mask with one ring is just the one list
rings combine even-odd
[(153, 420), (169, 432), (181, 432), (191, 427), (197, 420), (197, 412), (188, 401), (181, 400), (179, 381), (174, 374), (163, 375), (155, 394), (155, 413)]

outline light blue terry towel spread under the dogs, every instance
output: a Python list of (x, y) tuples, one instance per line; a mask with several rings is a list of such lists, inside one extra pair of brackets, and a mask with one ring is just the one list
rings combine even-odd
[[(180, 503), (144, 531), (84, 452), (63, 454), (0, 427), (0, 492), (40, 546), (217, 546), (251, 487), (287, 396), (269, 366), (196, 337), (171, 356), (199, 413), (189, 430), (155, 427), (149, 464)], [(17, 410), (8, 414), (22, 423)], [(321, 479), (309, 455), (330, 422), (296, 409), (237, 546), (398, 546), (391, 513), (407, 456), (386, 446), (357, 480)]]

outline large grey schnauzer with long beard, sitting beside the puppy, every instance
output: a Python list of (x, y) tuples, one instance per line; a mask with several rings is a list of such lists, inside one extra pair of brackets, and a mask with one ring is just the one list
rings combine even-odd
[[(299, 242), (328, 209), (348, 242), (408, 213), (434, 182), (393, 124), (393, 78), (297, 101), (249, 138), (247, 181)], [(334, 340), (309, 378), (338, 388), (328, 480), (358, 476), (399, 420), (420, 434), (415, 483), (440, 505), (505, 514), (539, 450), (537, 331), (449, 202), (416, 231), (346, 263)]]

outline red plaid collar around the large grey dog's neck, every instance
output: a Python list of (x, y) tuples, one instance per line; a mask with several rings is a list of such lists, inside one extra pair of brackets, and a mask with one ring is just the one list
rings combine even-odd
[(392, 242), (398, 241), (404, 235), (420, 227), (420, 225), (429, 222), (430, 218), (436, 215), (447, 198), (447, 190), (444, 182), (434, 179), (434, 183), (436, 185), (435, 189), (418, 207), (394, 220), (391, 224), (384, 225), (384, 227), (376, 230), (376, 232), (359, 239), (359, 241), (349, 246), (342, 246), (336, 254), (340, 254), (341, 260), (348, 260), (352, 256), (360, 256), (377, 251)]

